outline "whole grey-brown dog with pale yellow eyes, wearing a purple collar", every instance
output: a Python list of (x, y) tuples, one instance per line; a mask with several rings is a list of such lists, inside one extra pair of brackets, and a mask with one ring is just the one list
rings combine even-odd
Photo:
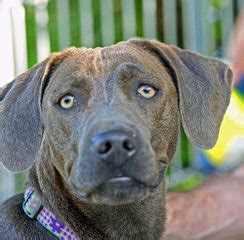
[(0, 161), (30, 168), (28, 190), (1, 205), (0, 238), (163, 239), (180, 123), (214, 146), (231, 79), (215, 58), (145, 39), (69, 48), (17, 77), (0, 92)]

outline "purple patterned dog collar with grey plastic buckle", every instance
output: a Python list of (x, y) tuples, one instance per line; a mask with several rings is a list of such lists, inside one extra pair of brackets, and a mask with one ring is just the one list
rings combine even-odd
[(29, 218), (36, 219), (45, 229), (56, 236), (57, 239), (78, 240), (67, 226), (42, 205), (38, 194), (31, 188), (25, 191), (25, 200), (22, 207)]

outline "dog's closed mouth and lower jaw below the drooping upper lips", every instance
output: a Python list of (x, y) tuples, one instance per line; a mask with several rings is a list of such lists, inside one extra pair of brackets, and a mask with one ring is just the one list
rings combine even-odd
[(74, 184), (72, 185), (77, 196), (86, 202), (109, 205), (129, 204), (147, 198), (164, 179), (165, 169), (166, 167), (162, 165), (157, 179), (151, 184), (129, 176), (116, 176), (107, 179), (89, 192), (83, 192)]

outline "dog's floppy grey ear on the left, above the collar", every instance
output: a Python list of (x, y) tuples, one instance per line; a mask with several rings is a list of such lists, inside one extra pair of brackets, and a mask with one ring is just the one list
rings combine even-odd
[(0, 162), (11, 171), (28, 168), (42, 140), (41, 97), (59, 53), (0, 88)]

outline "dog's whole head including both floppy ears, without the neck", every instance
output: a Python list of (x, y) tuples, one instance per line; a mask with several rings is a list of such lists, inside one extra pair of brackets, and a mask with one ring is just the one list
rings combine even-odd
[(46, 144), (82, 201), (141, 200), (163, 179), (180, 118), (195, 145), (215, 144), (231, 76), (216, 59), (157, 41), (67, 49), (1, 89), (0, 161), (23, 170)]

